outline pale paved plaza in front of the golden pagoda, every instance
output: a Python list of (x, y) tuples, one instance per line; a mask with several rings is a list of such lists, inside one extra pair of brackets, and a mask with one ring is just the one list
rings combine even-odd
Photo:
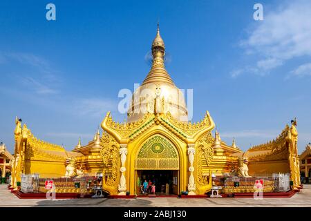
[(0, 185), (0, 206), (117, 206), (117, 207), (245, 207), (245, 206), (311, 206), (311, 185), (305, 185), (300, 193), (292, 198), (266, 198), (254, 200), (253, 198), (136, 198), (136, 199), (70, 199), (70, 200), (43, 200), (43, 199), (19, 199), (7, 189), (6, 185)]

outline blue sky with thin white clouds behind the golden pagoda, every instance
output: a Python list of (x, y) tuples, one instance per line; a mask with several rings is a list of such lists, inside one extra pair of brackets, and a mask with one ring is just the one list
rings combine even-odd
[(296, 117), (301, 152), (311, 142), (310, 15), (310, 1), (1, 1), (0, 141), (13, 151), (15, 116), (68, 150), (92, 139), (106, 111), (122, 121), (117, 94), (149, 72), (159, 19), (167, 70), (194, 89), (194, 121), (209, 111), (222, 140), (246, 150)]

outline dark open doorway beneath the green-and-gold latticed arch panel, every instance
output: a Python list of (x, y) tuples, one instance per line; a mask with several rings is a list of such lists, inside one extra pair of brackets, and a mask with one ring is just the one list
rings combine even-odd
[[(156, 195), (178, 195), (177, 170), (142, 170), (137, 171), (138, 184), (136, 192), (141, 193), (141, 186), (145, 180), (156, 185)], [(149, 193), (151, 194), (151, 193)]]

